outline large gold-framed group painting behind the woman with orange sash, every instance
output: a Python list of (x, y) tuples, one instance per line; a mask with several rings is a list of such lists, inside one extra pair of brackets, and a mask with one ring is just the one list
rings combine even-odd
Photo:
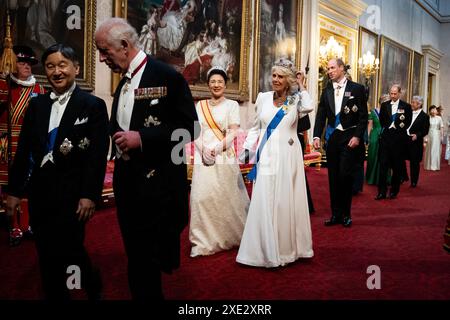
[[(212, 66), (219, 65), (229, 77), (226, 97), (247, 101), (250, 0), (173, 1), (178, 5), (165, 11), (166, 2), (172, 1), (115, 0), (114, 13), (136, 28), (144, 51), (183, 74), (194, 99), (210, 97), (206, 74)], [(155, 9), (159, 10), (155, 13), (159, 22), (154, 28), (157, 45), (152, 51), (145, 38), (148, 30), (153, 30), (149, 26)], [(177, 29), (175, 23), (181, 27)], [(119, 76), (114, 75), (112, 92), (118, 82)]]

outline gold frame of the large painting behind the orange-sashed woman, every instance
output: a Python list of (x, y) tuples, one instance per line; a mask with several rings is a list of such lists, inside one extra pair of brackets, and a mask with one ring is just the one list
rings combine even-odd
[[(240, 62), (239, 62), (239, 86), (237, 90), (226, 89), (225, 95), (227, 98), (237, 101), (247, 101), (249, 99), (248, 89), (248, 65), (249, 65), (249, 49), (251, 39), (251, 27), (250, 27), (250, 0), (242, 0), (242, 19), (241, 19), (241, 46), (240, 46)], [(117, 17), (127, 19), (128, 13), (128, 0), (114, 0), (114, 14)], [(111, 94), (114, 94), (115, 88), (119, 84), (120, 75), (114, 74), (111, 80)], [(206, 99), (211, 96), (211, 93), (206, 85), (189, 86), (192, 92), (192, 96), (195, 99)]]

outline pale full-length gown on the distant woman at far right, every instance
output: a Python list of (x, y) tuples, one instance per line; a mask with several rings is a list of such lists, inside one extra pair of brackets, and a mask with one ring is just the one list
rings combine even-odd
[(425, 170), (437, 171), (441, 169), (441, 130), (444, 128), (442, 118), (430, 117), (430, 130), (428, 131), (428, 142), (425, 148)]

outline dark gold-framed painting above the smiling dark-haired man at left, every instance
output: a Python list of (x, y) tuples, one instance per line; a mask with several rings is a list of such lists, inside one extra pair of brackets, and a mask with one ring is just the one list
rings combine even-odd
[[(16, 2), (16, 6), (10, 8), (13, 44), (30, 46), (39, 62), (45, 49), (54, 43), (64, 43), (72, 47), (80, 59), (80, 74), (75, 80), (83, 90), (93, 91), (96, 12), (96, 0)], [(0, 16), (2, 25), (6, 25), (6, 1), (1, 5)], [(3, 51), (3, 48), (1, 50)], [(33, 66), (33, 74), (39, 83), (50, 86), (41, 63)]]

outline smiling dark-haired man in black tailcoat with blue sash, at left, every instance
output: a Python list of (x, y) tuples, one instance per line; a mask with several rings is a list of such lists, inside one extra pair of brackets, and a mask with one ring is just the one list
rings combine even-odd
[(77, 266), (81, 287), (89, 299), (98, 299), (100, 277), (83, 241), (103, 189), (108, 113), (103, 100), (76, 85), (80, 67), (72, 48), (49, 47), (42, 64), (53, 91), (30, 100), (10, 170), (7, 211), (18, 209), (27, 187), (46, 298), (70, 298), (68, 267)]

